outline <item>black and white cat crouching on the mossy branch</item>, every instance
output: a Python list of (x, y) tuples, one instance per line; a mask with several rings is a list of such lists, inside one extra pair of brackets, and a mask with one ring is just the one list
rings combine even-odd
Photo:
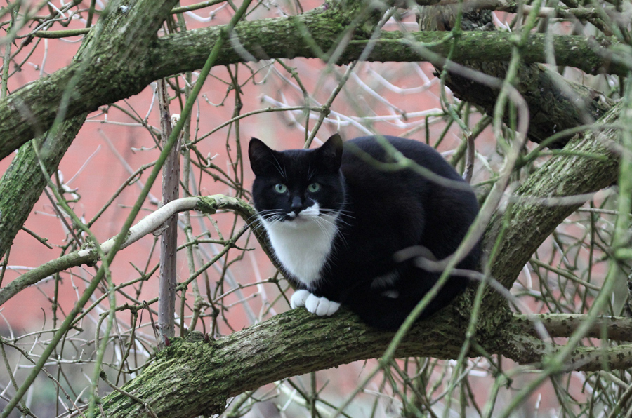
[[(397, 262), (394, 255), (422, 246), (444, 259), (459, 246), (478, 213), (473, 191), (432, 147), (386, 137), (408, 159), (463, 187), (447, 187), (410, 169), (386, 171), (360, 159), (339, 135), (317, 149), (275, 151), (249, 145), (252, 189), (284, 276), (296, 285), (291, 307), (331, 315), (340, 304), (376, 328), (399, 327), (440, 273)], [(373, 159), (388, 157), (375, 137), (349, 142)], [(454, 183), (453, 183), (454, 184)], [(459, 269), (476, 269), (477, 246)], [(449, 304), (468, 283), (452, 276), (421, 314)]]

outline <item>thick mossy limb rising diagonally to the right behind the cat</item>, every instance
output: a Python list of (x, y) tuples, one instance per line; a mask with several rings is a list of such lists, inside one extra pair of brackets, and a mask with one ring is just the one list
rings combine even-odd
[[(492, 276), (506, 288), (511, 288), (522, 267), (562, 220), (590, 194), (617, 180), (619, 157), (615, 148), (621, 106), (617, 104), (600, 119), (593, 127), (596, 131), (573, 137), (560, 154), (518, 187), (508, 208), (492, 218), (485, 241), (491, 248), (500, 240)], [(492, 304), (488, 306), (493, 309)]]

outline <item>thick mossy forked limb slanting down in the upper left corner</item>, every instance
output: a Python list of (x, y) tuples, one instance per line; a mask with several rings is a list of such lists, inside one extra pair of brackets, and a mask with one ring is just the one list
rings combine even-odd
[[(70, 66), (0, 101), (0, 159), (37, 135), (43, 141), (40, 153), (48, 174), (55, 173), (86, 120), (86, 111), (103, 104), (110, 90), (121, 90), (125, 81), (133, 79), (129, 74), (136, 72), (136, 66), (143, 67), (143, 57), (157, 38), (170, 5), (175, 3), (110, 2)], [(112, 51), (118, 58), (108, 60)], [(96, 79), (101, 83), (90, 86)], [(98, 104), (90, 107), (84, 100), (96, 100)], [(0, 180), (0, 257), (10, 248), (46, 184), (32, 147), (22, 148)]]

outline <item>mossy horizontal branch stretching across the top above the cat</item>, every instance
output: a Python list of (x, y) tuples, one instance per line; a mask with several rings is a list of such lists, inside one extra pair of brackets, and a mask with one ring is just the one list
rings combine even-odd
[[(332, 20), (326, 11), (310, 11), (296, 18), (275, 18), (242, 22), (236, 27), (239, 43), (243, 50), (235, 50), (227, 45), (222, 54), (223, 65), (246, 60), (266, 60), (272, 58), (319, 58), (312, 48), (315, 43), (320, 50), (328, 51), (336, 46), (341, 32), (336, 30), (340, 18)], [(304, 32), (298, 30), (301, 25), (311, 35), (305, 40)], [(262, 30), (265, 28), (265, 30)], [(269, 38), (262, 33), (275, 32), (277, 36)], [(192, 63), (199, 65), (204, 60), (204, 46), (217, 36), (218, 27), (206, 27), (189, 32), (181, 32), (161, 38), (154, 50), (156, 72), (162, 76), (177, 74), (190, 69)], [(278, 34), (282, 34), (278, 36)], [(329, 36), (329, 37), (328, 37)], [(558, 65), (577, 67), (588, 74), (610, 72), (627, 74), (627, 67), (612, 61), (612, 46), (609, 39), (586, 39), (585, 36), (551, 36), (555, 58)], [(381, 32), (376, 41), (371, 41), (371, 54), (368, 61), (424, 61), (428, 56), (424, 50), (443, 57), (447, 56), (454, 39), (448, 32)], [(532, 34), (523, 50), (525, 62), (546, 62), (546, 34)], [(482, 62), (508, 61), (513, 50), (514, 35), (506, 32), (466, 32), (459, 37), (452, 59), (456, 62), (479, 60)], [(357, 60), (369, 45), (362, 34), (355, 34), (338, 63)], [(176, 60), (180, 57), (180, 60)], [(320, 57), (327, 58), (327, 57)]]

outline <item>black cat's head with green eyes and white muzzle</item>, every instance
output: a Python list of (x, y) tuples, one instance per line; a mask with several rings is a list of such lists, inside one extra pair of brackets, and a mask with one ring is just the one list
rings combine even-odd
[(337, 215), (345, 201), (342, 152), (338, 134), (320, 148), (288, 151), (275, 151), (252, 138), (248, 155), (255, 174), (252, 196), (259, 215), (264, 220), (293, 224)]

